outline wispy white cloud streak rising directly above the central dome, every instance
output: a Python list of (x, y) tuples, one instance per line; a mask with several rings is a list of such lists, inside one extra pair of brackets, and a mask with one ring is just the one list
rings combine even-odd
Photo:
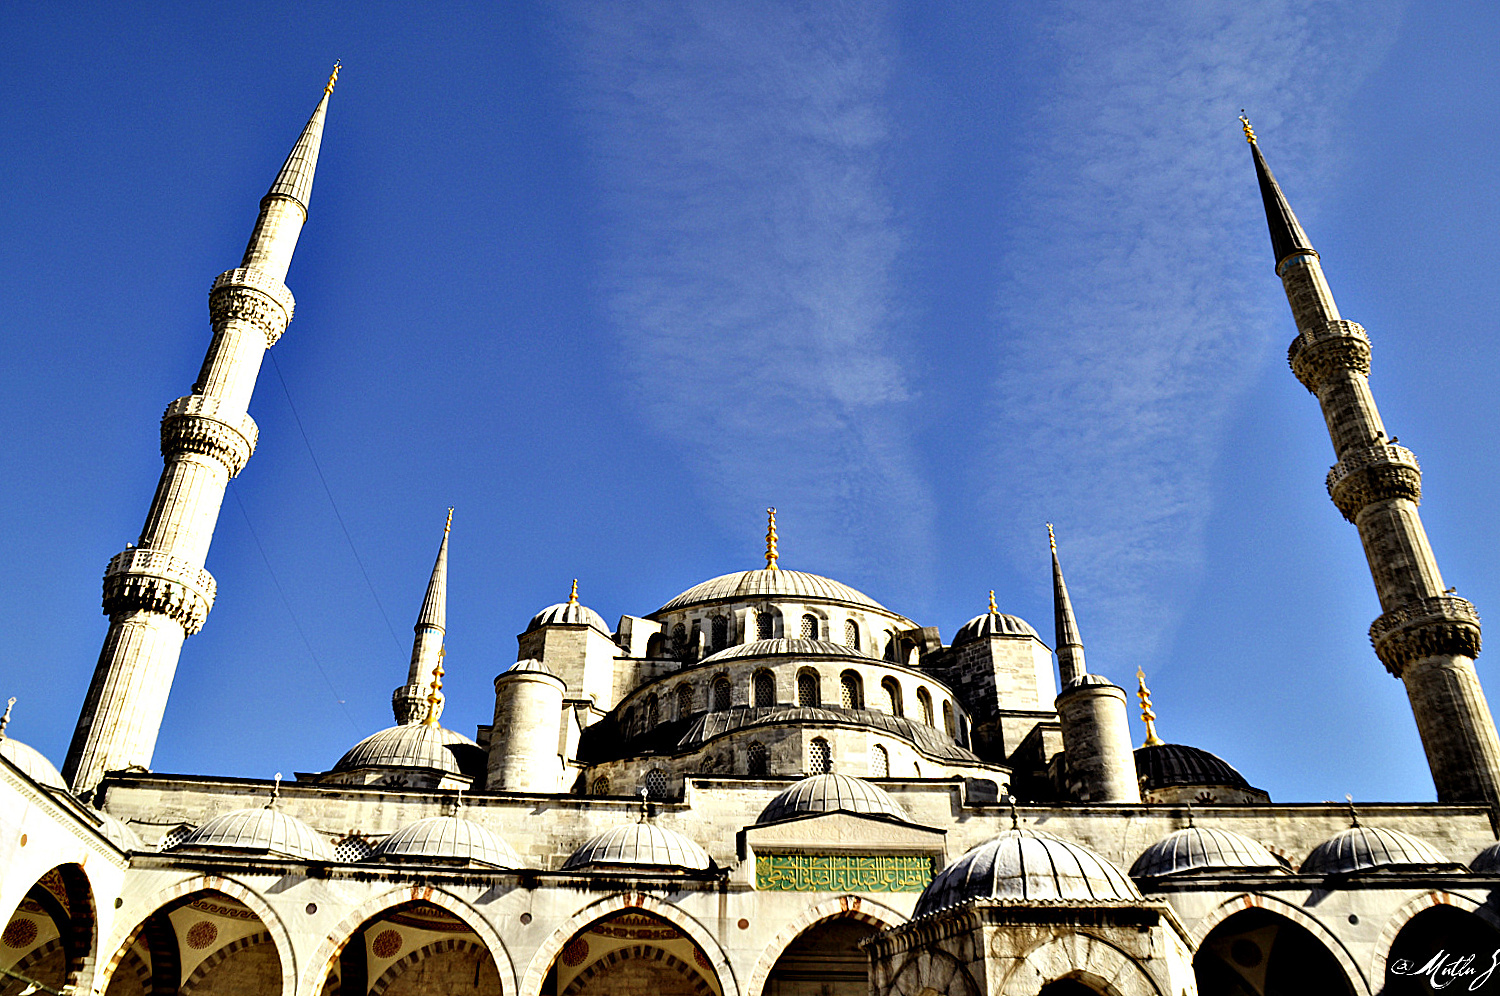
[[(567, 8), (630, 394), (708, 506), (776, 502), (820, 570), (922, 573), (892, 332), (892, 39), (867, 3)], [(806, 561), (804, 561), (806, 566)]]

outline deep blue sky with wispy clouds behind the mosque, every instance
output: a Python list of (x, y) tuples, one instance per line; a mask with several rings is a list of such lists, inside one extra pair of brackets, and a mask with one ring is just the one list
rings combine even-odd
[(1234, 116), (1374, 338), (1448, 584), (1500, 610), (1494, 16), (14, 6), (9, 732), (62, 760), (208, 282), (340, 58), (158, 770), (318, 771), (388, 724), (450, 504), (466, 732), (574, 576), (646, 614), (758, 566), (776, 504), (783, 566), (945, 639), (990, 588), (1050, 632), (1052, 519), (1090, 666), (1144, 666), (1167, 740), (1276, 800), (1431, 798)]

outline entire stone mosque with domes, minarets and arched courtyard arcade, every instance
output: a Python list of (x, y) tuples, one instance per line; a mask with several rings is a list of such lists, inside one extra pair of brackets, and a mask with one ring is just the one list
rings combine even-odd
[(140, 542), (104, 576), (110, 630), (62, 770), (0, 722), (0, 993), (1500, 993), (1479, 620), (1443, 585), (1370, 338), (1248, 122), (1292, 369), (1328, 422), (1329, 494), (1380, 594), (1374, 651), (1438, 802), (1272, 802), (1160, 741), (1143, 676), (1132, 746), (1056, 544), (1050, 645), (993, 597), (944, 642), (782, 568), (774, 510), (764, 567), (615, 624), (576, 585), (538, 612), (472, 736), (441, 723), (444, 528), (388, 729), (288, 783), (152, 771), (213, 606), (219, 502), (256, 444), (250, 393), (292, 316), (332, 92), (213, 282)]

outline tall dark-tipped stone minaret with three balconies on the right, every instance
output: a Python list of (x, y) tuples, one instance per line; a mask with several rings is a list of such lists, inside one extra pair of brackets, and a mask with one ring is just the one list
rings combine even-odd
[(1479, 616), (1444, 588), (1418, 514), (1422, 471), (1412, 450), (1386, 436), (1370, 393), (1370, 336), (1338, 314), (1318, 254), (1270, 174), (1250, 122), (1240, 116), (1270, 226), (1276, 276), (1298, 338), (1292, 372), (1323, 408), (1338, 460), (1328, 494), (1359, 530), (1382, 615), (1370, 640), (1406, 684), (1442, 802), (1500, 802), (1500, 740), (1474, 657)]

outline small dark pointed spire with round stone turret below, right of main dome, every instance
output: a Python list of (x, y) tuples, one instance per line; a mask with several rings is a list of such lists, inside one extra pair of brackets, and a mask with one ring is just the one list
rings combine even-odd
[(1058, 538), (1047, 524), (1052, 546), (1052, 604), (1058, 634), (1058, 675), (1062, 692), (1053, 706), (1062, 726), (1066, 792), (1080, 802), (1140, 802), (1136, 752), (1130, 741), (1125, 690), (1083, 666), (1083, 638), (1072, 615), (1068, 585), (1058, 562)]

